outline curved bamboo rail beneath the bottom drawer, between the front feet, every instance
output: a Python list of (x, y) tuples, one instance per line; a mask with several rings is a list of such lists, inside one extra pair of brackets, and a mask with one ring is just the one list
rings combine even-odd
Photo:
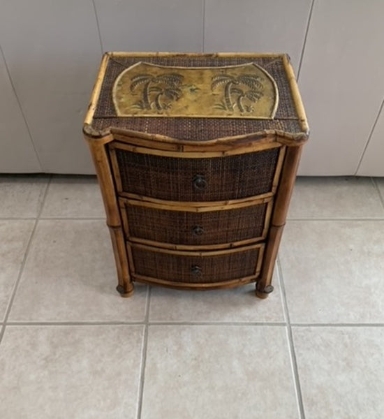
[(152, 277), (145, 277), (144, 275), (133, 274), (134, 281), (142, 282), (144, 284), (158, 284), (165, 286), (167, 288), (173, 289), (184, 289), (184, 290), (194, 290), (194, 291), (209, 291), (209, 290), (219, 290), (226, 288), (235, 288), (240, 285), (251, 284), (256, 282), (256, 276), (244, 277), (239, 279), (230, 279), (229, 281), (222, 282), (212, 282), (209, 284), (197, 284), (193, 282), (176, 282), (176, 281), (167, 281), (165, 279), (158, 279)]

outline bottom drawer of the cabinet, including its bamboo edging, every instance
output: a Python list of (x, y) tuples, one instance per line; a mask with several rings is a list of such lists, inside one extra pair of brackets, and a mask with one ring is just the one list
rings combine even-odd
[(218, 284), (256, 278), (264, 244), (222, 251), (166, 251), (131, 244), (133, 276), (177, 284)]

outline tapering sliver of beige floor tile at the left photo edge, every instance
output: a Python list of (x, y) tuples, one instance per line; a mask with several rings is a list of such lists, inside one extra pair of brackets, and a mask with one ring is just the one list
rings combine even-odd
[(0, 321), (6, 314), (34, 223), (34, 220), (0, 220)]

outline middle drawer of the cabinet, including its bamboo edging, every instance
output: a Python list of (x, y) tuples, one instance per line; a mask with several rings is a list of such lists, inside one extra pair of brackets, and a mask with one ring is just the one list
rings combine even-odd
[[(272, 198), (226, 207), (172, 207), (120, 198), (126, 238), (173, 249), (232, 247), (264, 240)], [(218, 246), (221, 245), (221, 246)]]

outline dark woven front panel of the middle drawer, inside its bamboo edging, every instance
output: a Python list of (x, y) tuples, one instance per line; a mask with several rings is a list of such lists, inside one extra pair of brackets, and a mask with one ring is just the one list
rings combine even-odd
[(224, 244), (260, 237), (267, 204), (236, 210), (184, 212), (126, 205), (132, 237), (172, 244)]

